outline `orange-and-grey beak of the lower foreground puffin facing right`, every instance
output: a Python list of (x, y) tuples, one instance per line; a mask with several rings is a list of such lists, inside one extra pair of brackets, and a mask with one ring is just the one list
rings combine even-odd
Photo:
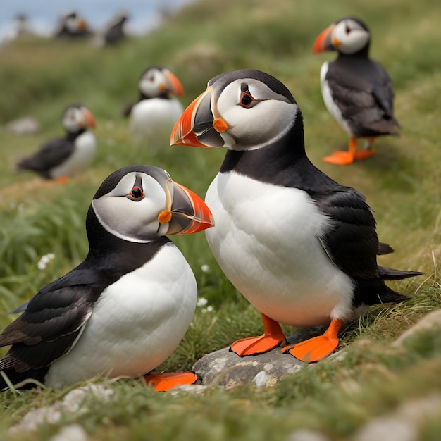
[(206, 203), (192, 190), (173, 180), (167, 181), (166, 205), (168, 208), (159, 213), (158, 220), (169, 224), (167, 235), (190, 235), (214, 225)]

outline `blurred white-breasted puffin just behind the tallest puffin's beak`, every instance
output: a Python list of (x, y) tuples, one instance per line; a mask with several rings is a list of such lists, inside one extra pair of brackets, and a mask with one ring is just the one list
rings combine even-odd
[(142, 73), (138, 88), (137, 103), (126, 106), (123, 112), (130, 118), (130, 135), (137, 142), (167, 142), (170, 130), (184, 111), (180, 101), (172, 96), (184, 94), (180, 80), (163, 66), (151, 66)]

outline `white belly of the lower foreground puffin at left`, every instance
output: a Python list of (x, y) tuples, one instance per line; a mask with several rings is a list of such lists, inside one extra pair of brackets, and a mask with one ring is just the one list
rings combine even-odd
[(194, 275), (178, 248), (166, 246), (142, 268), (106, 288), (71, 351), (46, 375), (63, 387), (97, 375), (137, 377), (178, 347), (197, 302)]

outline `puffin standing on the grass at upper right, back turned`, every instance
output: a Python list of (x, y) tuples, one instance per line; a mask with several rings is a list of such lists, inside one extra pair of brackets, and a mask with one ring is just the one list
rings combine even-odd
[[(394, 89), (385, 68), (368, 56), (371, 34), (359, 18), (344, 17), (326, 27), (313, 44), (313, 53), (337, 51), (335, 61), (321, 66), (323, 101), (349, 136), (348, 151), (336, 151), (323, 161), (347, 165), (373, 156), (371, 143), (382, 135), (398, 135)], [(365, 138), (357, 151), (357, 139)]]

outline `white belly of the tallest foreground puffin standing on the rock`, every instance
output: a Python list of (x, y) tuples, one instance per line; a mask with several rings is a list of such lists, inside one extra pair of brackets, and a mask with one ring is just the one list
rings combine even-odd
[(206, 204), (216, 222), (209, 246), (256, 309), (293, 326), (352, 315), (352, 280), (325, 254), (328, 218), (305, 192), (220, 173)]

